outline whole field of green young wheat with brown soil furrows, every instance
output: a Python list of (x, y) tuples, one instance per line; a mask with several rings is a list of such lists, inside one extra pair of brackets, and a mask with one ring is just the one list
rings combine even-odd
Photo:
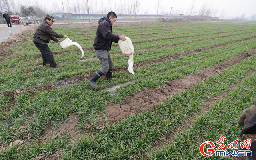
[(96, 29), (54, 29), (84, 49), (81, 59), (75, 46), (50, 42), (58, 68), (40, 66), (32, 33), (1, 51), (1, 160), (235, 158), (199, 147), (245, 139), (238, 119), (256, 99), (256, 23), (114, 26), (132, 40), (136, 77), (112, 43), (117, 79), (103, 76), (98, 90), (88, 84), (100, 68)]

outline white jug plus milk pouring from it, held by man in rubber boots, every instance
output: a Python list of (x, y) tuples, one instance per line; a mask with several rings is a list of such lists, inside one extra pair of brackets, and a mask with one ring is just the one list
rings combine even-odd
[[(134, 48), (132, 45), (132, 41), (129, 37), (125, 37), (125, 41), (119, 40), (118, 45), (122, 51), (122, 54), (124, 56), (129, 56), (128, 60), (128, 71), (134, 75), (133, 72), (133, 53), (134, 53)], [(134, 75), (135, 76), (135, 75)]]

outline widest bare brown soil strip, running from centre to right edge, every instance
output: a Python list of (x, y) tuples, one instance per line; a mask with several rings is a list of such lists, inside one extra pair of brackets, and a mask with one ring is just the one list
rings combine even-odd
[(154, 106), (166, 101), (171, 96), (181, 93), (184, 89), (191, 89), (196, 84), (222, 72), (226, 68), (239, 63), (241, 60), (244, 60), (254, 54), (256, 54), (256, 49), (245, 52), (195, 74), (167, 82), (162, 87), (150, 88), (148, 90), (138, 92), (130, 98), (126, 97), (124, 102), (120, 104), (109, 104), (106, 106), (107, 120), (115, 122), (119, 121), (121, 118), (127, 118), (130, 114), (139, 114), (142, 110), (153, 109)]

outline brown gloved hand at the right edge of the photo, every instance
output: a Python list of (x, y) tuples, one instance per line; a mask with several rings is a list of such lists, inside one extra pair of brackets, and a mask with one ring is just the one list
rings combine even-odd
[(238, 124), (240, 126), (244, 126), (246, 124), (246, 122), (248, 122), (248, 120), (250, 120), (252, 118), (252, 116), (254, 116), (254, 114), (256, 114), (256, 100), (254, 100), (254, 104), (250, 107), (247, 108), (246, 110), (243, 111), (243, 113), (241, 114)]

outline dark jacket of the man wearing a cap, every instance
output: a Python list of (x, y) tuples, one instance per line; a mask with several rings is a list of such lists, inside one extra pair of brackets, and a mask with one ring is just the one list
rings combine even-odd
[[(55, 38), (56, 37), (56, 38)], [(58, 34), (52, 30), (50, 25), (44, 20), (37, 28), (33, 36), (33, 41), (41, 44), (47, 44), (50, 39), (58, 42), (57, 38), (63, 38), (62, 34)]]

